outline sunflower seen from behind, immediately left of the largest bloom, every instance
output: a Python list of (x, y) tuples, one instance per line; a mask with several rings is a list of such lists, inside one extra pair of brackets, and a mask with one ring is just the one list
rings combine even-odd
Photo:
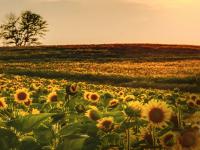
[(143, 105), (139, 101), (129, 102), (125, 110), (130, 117), (141, 117)]

